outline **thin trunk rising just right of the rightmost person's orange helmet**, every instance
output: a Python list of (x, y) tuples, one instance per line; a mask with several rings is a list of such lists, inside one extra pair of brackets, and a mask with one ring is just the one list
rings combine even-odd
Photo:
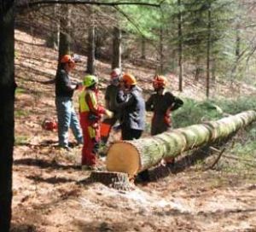
[(177, 16), (177, 35), (178, 35), (178, 90), (183, 91), (183, 31), (182, 31), (182, 13), (181, 0), (177, 0), (178, 16)]

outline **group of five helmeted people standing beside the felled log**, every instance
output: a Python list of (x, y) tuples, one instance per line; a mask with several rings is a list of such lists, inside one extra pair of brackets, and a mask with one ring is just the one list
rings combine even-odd
[[(154, 77), (154, 94), (145, 102), (137, 79), (131, 73), (122, 73), (119, 68), (115, 68), (110, 73), (110, 84), (105, 92), (105, 107), (102, 107), (98, 102), (98, 78), (86, 75), (83, 86), (73, 83), (69, 75), (74, 67), (75, 61), (70, 55), (61, 58), (61, 67), (55, 77), (55, 105), (59, 146), (69, 148), (68, 129), (71, 128), (78, 144), (83, 144), (83, 168), (94, 169), (100, 142), (108, 142), (109, 133), (118, 121), (122, 140), (133, 140), (142, 136), (146, 111), (154, 113), (151, 135), (172, 128), (170, 113), (181, 107), (183, 101), (166, 90), (166, 77)], [(79, 95), (79, 119), (73, 107), (74, 90), (82, 90)], [(105, 115), (104, 119), (102, 115)], [(172, 163), (173, 160), (166, 160), (167, 165)], [(142, 174), (148, 175), (147, 171)]]

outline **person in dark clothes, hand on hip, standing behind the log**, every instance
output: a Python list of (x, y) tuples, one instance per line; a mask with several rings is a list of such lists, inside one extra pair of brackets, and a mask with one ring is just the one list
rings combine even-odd
[[(172, 129), (171, 113), (183, 106), (183, 101), (166, 90), (165, 76), (155, 75), (153, 79), (154, 94), (146, 102), (146, 110), (152, 111), (151, 135), (155, 136)], [(166, 165), (172, 167), (174, 158), (166, 159)]]

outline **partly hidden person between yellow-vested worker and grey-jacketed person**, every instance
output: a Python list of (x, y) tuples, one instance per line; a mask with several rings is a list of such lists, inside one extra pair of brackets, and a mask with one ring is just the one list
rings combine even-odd
[(119, 109), (117, 107), (117, 98), (119, 93), (119, 79), (121, 77), (121, 70), (117, 67), (110, 73), (110, 84), (108, 84), (105, 93), (105, 106), (108, 110), (113, 112), (112, 119), (104, 119), (101, 125), (101, 142), (106, 145), (108, 137), (113, 125), (119, 119)]

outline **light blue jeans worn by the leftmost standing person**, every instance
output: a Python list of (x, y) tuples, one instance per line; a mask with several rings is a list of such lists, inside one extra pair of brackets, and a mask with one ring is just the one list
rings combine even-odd
[(83, 143), (83, 134), (79, 124), (79, 119), (75, 113), (73, 102), (70, 97), (57, 96), (55, 105), (58, 117), (59, 146), (68, 147), (68, 129), (73, 131), (77, 142)]

